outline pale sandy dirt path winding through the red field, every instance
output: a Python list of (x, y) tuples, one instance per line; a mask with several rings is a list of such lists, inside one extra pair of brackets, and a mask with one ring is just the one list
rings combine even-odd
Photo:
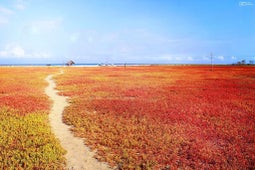
[[(63, 72), (59, 73), (63, 74)], [(64, 108), (68, 106), (66, 97), (60, 96), (55, 90), (56, 84), (52, 79), (54, 76), (49, 75), (45, 80), (49, 83), (45, 88), (45, 93), (53, 101), (53, 105), (49, 114), (50, 125), (53, 133), (60, 140), (62, 147), (67, 151), (65, 155), (67, 160), (67, 169), (69, 170), (105, 170), (110, 169), (105, 163), (97, 161), (94, 152), (91, 152), (83, 143), (83, 140), (70, 132), (70, 126), (62, 122), (62, 113)]]

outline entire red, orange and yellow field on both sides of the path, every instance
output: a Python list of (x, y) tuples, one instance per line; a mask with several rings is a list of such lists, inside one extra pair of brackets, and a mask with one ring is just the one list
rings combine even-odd
[[(119, 169), (254, 169), (255, 67), (65, 67), (64, 121)], [(0, 169), (63, 169), (51, 67), (0, 67)]]

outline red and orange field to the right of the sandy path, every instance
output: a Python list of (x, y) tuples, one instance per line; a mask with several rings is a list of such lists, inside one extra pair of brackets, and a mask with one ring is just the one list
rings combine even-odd
[(120, 169), (254, 169), (255, 67), (65, 68), (64, 121)]

